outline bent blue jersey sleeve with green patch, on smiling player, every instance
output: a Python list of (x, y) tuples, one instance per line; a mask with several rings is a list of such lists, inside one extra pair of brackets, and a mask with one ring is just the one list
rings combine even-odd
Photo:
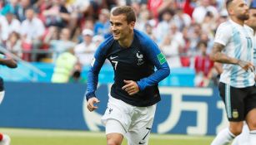
[(149, 75), (147, 78), (143, 78), (137, 82), (140, 90), (143, 90), (148, 86), (157, 85), (161, 80), (170, 74), (167, 60), (163, 53), (159, 50), (157, 44), (155, 44), (155, 42), (149, 38), (143, 44), (143, 51), (148, 57), (148, 60), (153, 63), (157, 70), (152, 75)]

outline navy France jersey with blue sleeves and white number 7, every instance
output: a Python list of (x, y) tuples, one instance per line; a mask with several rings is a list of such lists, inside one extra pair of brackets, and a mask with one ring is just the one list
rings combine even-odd
[[(140, 107), (156, 104), (160, 100), (158, 82), (166, 78), (170, 70), (158, 46), (148, 36), (134, 30), (133, 43), (128, 48), (120, 46), (113, 36), (109, 36), (98, 47), (88, 71), (87, 99), (95, 96), (98, 73), (106, 59), (111, 62), (114, 70), (111, 88), (113, 98)], [(123, 80), (136, 81), (140, 91), (133, 96), (129, 95), (122, 89), (125, 85)]]

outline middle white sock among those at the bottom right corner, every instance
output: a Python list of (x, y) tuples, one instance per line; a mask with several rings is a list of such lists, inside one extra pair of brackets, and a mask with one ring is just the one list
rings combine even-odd
[(246, 124), (243, 125), (243, 131), (236, 138), (233, 139), (232, 145), (245, 145), (248, 144), (249, 129)]

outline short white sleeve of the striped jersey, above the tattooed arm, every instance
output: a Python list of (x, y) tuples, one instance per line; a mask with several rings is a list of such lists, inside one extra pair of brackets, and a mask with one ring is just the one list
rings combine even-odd
[(216, 31), (214, 42), (220, 43), (223, 46), (226, 46), (231, 36), (232, 36), (231, 26), (228, 25), (227, 22), (222, 23), (219, 25)]

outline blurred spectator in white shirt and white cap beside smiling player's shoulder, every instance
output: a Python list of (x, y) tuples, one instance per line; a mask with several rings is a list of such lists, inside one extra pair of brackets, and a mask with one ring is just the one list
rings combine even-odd
[(79, 62), (82, 65), (90, 65), (93, 60), (96, 46), (93, 43), (93, 31), (90, 29), (84, 29), (82, 32), (83, 42), (75, 46), (75, 56), (78, 57)]

